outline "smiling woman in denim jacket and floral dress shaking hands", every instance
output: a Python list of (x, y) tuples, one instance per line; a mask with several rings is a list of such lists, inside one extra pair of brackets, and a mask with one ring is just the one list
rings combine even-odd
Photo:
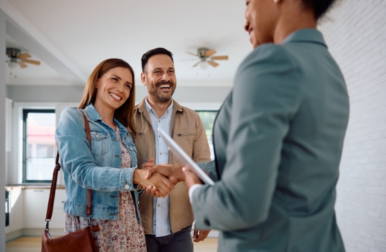
[[(158, 189), (165, 197), (174, 185), (162, 175), (145, 179), (136, 169), (134, 71), (121, 59), (96, 66), (85, 86), (79, 108), (65, 108), (55, 138), (63, 167), (65, 233), (99, 225), (94, 233), (99, 251), (146, 251), (138, 211), (138, 190)], [(129, 99), (130, 97), (130, 99)], [(88, 118), (91, 151), (83, 113)], [(92, 189), (92, 215), (86, 214), (87, 189)]]

